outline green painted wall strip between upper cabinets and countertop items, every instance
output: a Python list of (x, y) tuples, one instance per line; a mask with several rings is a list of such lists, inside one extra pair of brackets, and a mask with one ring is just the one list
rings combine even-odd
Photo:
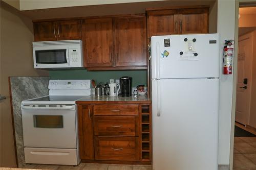
[(51, 79), (94, 79), (96, 84), (99, 82), (109, 82), (110, 79), (119, 79), (122, 76), (132, 77), (132, 87), (139, 84), (146, 85), (146, 70), (125, 70), (125, 71), (87, 71), (83, 70), (51, 70)]

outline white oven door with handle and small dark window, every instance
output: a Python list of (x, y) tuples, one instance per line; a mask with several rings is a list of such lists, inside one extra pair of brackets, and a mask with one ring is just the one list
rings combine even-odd
[(22, 105), (25, 147), (77, 148), (75, 105)]

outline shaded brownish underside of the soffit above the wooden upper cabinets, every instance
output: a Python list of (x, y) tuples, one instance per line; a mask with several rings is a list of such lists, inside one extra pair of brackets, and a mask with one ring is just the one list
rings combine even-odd
[(105, 5), (27, 10), (27, 11), (20, 11), (20, 13), (32, 20), (38, 20), (38, 19), (50, 19), (50, 18), (72, 18), (72, 17), (87, 17), (87, 16), (136, 14), (136, 13), (138, 14), (138, 13), (145, 13), (146, 8), (175, 7), (175, 6), (177, 7), (177, 6), (185, 6), (188, 4), (189, 6), (207, 5), (212, 7), (214, 6), (215, 2), (216, 0), (151, 1), (151, 2), (139, 2), (139, 3), (105, 4)]

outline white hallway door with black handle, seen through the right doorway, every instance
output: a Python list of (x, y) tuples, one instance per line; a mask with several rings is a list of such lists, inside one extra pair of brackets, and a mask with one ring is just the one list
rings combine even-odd
[(243, 125), (249, 123), (252, 52), (253, 33), (240, 36), (238, 42), (236, 121)]

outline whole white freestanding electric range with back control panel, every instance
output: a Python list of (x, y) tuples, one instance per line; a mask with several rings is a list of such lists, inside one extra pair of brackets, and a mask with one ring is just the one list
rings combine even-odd
[(22, 101), (26, 163), (80, 162), (75, 102), (91, 95), (91, 80), (50, 80), (49, 95)]

